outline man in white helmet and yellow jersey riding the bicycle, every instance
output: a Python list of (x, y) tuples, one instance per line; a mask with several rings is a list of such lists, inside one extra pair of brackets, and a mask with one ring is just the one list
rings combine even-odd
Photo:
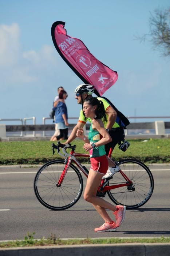
[[(83, 102), (86, 98), (92, 97), (92, 93), (94, 93), (94, 90), (95, 90), (95, 88), (91, 84), (80, 84), (78, 87), (76, 87), (75, 98), (77, 99), (77, 103), (83, 105)], [(108, 144), (105, 145), (106, 155), (108, 155), (110, 148), (114, 149), (116, 144), (118, 144), (119, 142), (124, 140), (124, 129), (123, 129), (123, 127), (120, 127), (120, 125), (116, 122), (117, 113), (114, 110), (114, 108), (112, 108), (110, 103), (108, 103), (106, 101), (106, 99), (104, 99), (102, 97), (97, 97), (97, 99), (101, 100), (103, 102), (104, 110), (105, 110), (106, 117), (107, 117), (107, 122), (104, 122), (104, 128), (106, 129), (106, 131), (110, 134), (110, 136), (112, 138), (112, 142), (109, 142)], [(86, 124), (87, 121), (89, 121), (91, 123), (91, 118), (86, 118), (81, 109), (78, 123), (73, 128), (69, 138), (66, 141), (66, 144), (71, 143), (72, 140), (74, 140), (76, 138), (77, 130), (78, 129), (81, 130), (81, 128), (84, 127), (84, 125)], [(103, 178), (109, 178), (115, 172), (119, 171), (119, 167), (116, 166), (115, 163), (112, 162), (109, 158), (108, 158), (108, 165), (109, 165), (109, 167), (108, 167), (107, 173), (103, 176)]]

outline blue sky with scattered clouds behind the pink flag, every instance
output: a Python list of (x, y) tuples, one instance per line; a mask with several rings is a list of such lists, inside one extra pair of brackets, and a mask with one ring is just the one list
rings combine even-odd
[(51, 26), (57, 20), (118, 72), (103, 96), (121, 112), (170, 116), (170, 59), (150, 42), (135, 40), (149, 32), (150, 12), (169, 6), (169, 0), (0, 0), (0, 118), (35, 116), (42, 124), (59, 86), (68, 93), (68, 116), (79, 116), (74, 89), (83, 82), (53, 45)]

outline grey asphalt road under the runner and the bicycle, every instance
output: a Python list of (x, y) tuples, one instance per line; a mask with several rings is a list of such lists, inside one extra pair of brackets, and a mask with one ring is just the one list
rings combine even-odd
[(42, 206), (33, 191), (37, 169), (0, 166), (0, 240), (23, 239), (27, 232), (35, 232), (35, 238), (51, 233), (60, 238), (170, 236), (170, 165), (150, 167), (153, 195), (141, 208), (127, 210), (123, 224), (112, 233), (94, 232), (103, 220), (83, 197), (65, 211)]

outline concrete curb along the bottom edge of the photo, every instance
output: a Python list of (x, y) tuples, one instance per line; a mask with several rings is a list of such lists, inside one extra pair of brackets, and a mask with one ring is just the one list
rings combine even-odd
[(156, 244), (97, 244), (97, 245), (67, 245), (67, 246), (33, 246), (25, 248), (4, 248), (0, 249), (1, 256), (169, 256), (170, 243)]

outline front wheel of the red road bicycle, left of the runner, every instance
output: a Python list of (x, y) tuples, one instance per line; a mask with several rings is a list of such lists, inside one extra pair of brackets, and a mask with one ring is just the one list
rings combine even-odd
[(62, 159), (52, 160), (43, 165), (35, 176), (35, 195), (43, 206), (51, 210), (66, 210), (82, 195), (83, 179), (73, 164), (70, 164), (63, 183), (57, 186), (65, 166)]

